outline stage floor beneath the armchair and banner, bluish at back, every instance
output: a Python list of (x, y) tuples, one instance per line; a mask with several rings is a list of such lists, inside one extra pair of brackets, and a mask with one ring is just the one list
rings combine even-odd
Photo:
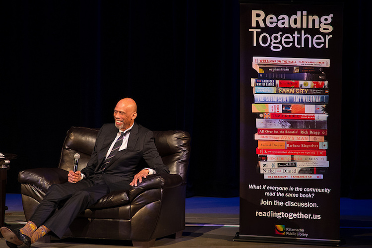
[[(20, 194), (7, 194), (5, 224), (20, 227), (25, 223)], [(341, 198), (340, 247), (372, 247), (372, 200)], [(239, 232), (239, 197), (190, 197), (186, 199), (186, 229), (177, 240), (166, 237), (155, 241), (157, 248), (326, 248), (326, 246), (272, 244), (233, 241)], [(0, 248), (7, 247), (0, 239)], [(35, 248), (118, 248), (132, 247), (130, 241), (63, 239), (35, 243)]]

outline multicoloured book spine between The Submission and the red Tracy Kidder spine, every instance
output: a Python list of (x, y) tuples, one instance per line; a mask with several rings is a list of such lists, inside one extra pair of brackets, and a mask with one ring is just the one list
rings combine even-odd
[(325, 114), (325, 104), (252, 103), (252, 113)]

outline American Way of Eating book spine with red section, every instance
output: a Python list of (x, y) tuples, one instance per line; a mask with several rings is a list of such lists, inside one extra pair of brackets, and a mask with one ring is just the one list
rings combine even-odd
[(327, 88), (328, 81), (308, 81), (308, 80), (275, 80), (275, 79), (250, 79), (251, 86), (262, 87), (282, 87), (282, 88)]

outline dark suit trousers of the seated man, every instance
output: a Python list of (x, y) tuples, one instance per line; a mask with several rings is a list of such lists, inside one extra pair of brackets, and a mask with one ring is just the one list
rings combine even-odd
[(36, 208), (30, 221), (49, 228), (60, 239), (75, 217), (110, 192), (102, 174), (77, 183), (54, 184)]

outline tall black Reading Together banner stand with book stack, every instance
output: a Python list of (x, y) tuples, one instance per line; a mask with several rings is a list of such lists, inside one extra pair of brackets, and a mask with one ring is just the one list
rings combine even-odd
[(337, 246), (342, 5), (240, 2), (240, 231)]

